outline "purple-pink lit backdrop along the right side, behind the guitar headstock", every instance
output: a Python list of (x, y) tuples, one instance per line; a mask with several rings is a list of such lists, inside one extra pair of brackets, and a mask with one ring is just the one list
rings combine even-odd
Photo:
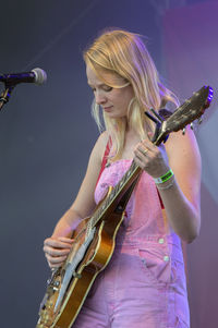
[(187, 247), (191, 327), (218, 327), (218, 2), (208, 1), (171, 9), (164, 16), (166, 72), (180, 99), (185, 100), (203, 85), (214, 87), (213, 106), (196, 127), (203, 163), (202, 230)]

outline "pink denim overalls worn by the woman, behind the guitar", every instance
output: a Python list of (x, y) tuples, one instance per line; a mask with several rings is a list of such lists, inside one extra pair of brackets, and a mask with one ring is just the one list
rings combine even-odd
[[(106, 167), (96, 203), (130, 168)], [(187, 328), (186, 283), (180, 239), (162, 218), (153, 179), (143, 172), (126, 207), (117, 246), (99, 274), (73, 328)]]

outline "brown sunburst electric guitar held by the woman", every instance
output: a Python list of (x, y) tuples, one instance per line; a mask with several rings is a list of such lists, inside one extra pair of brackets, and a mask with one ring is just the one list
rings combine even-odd
[[(202, 87), (158, 126), (154, 142), (159, 145), (170, 132), (202, 117), (209, 107), (213, 89)], [(84, 219), (73, 234), (74, 243), (62, 267), (56, 269), (39, 309), (36, 328), (70, 328), (95, 281), (109, 263), (125, 206), (142, 169), (132, 161), (130, 169), (100, 202), (90, 218)]]

